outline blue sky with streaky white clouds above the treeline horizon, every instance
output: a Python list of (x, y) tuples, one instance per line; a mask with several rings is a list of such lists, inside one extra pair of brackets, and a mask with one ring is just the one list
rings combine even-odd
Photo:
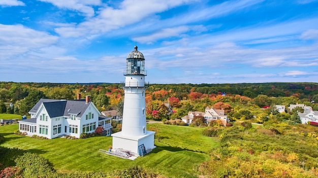
[(0, 0), (0, 81), (318, 82), (318, 1)]

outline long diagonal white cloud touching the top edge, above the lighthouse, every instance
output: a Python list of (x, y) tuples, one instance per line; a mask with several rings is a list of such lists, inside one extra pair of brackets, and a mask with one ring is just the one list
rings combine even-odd
[[(53, 0), (50, 0), (53, 1)], [(87, 34), (99, 34), (125, 25), (134, 24), (142, 19), (166, 11), (170, 8), (188, 3), (190, 0), (178, 1), (133, 1), (121, 2), (118, 9), (113, 7), (100, 8), (99, 15), (88, 19), (75, 27), (55, 28), (62, 37), (80, 37)], [(152, 17), (153, 18), (153, 17)]]

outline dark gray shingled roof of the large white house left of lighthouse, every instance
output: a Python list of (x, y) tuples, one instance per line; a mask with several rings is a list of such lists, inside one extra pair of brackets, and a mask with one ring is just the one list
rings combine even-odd
[(82, 117), (83, 113), (88, 108), (91, 101), (86, 103), (85, 99), (78, 100), (58, 100), (58, 99), (40, 99), (36, 105), (29, 111), (29, 113), (36, 113), (43, 103), (50, 118), (67, 116), (70, 114), (77, 115), (76, 117)]

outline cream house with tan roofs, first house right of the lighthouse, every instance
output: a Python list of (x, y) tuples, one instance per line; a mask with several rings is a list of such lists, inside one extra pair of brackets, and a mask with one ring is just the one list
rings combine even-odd
[(206, 124), (210, 124), (211, 121), (217, 119), (225, 119), (229, 122), (229, 118), (225, 115), (224, 110), (216, 110), (213, 108), (206, 107), (205, 112), (188, 112), (188, 115), (183, 116), (181, 119), (183, 122), (190, 124), (195, 116), (203, 116)]

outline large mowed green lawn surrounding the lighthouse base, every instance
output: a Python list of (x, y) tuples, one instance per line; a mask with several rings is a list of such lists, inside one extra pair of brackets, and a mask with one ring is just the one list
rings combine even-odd
[(18, 129), (17, 124), (0, 126), (0, 134), (5, 136), (1, 146), (38, 153), (47, 158), (61, 172), (111, 171), (140, 165), (168, 177), (198, 177), (193, 170), (194, 165), (208, 160), (209, 151), (219, 147), (218, 141), (202, 136), (201, 132), (204, 128), (164, 124), (147, 125), (157, 130), (154, 143), (157, 148), (135, 161), (98, 152), (99, 149), (108, 149), (112, 143), (112, 137), (40, 140), (13, 134), (13, 131)]

